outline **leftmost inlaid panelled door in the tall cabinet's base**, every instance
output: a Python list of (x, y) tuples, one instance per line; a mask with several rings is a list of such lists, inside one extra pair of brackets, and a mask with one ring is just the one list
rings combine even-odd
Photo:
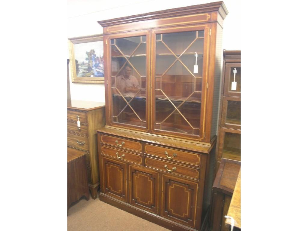
[(102, 157), (105, 193), (127, 202), (126, 164)]

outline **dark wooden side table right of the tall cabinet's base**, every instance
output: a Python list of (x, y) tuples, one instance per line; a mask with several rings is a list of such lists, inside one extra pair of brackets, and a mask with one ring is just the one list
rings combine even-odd
[(229, 227), (225, 225), (225, 215), (228, 213), (240, 168), (241, 161), (221, 159), (213, 184), (212, 231), (229, 231)]

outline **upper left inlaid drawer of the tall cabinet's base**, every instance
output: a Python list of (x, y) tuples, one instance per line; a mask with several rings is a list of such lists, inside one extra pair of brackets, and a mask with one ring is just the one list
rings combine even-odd
[(101, 135), (100, 140), (105, 144), (110, 144), (119, 148), (127, 148), (130, 150), (134, 150), (137, 152), (142, 151), (141, 143), (132, 141), (132, 140), (126, 140), (123, 138), (115, 137), (115, 136), (106, 136)]

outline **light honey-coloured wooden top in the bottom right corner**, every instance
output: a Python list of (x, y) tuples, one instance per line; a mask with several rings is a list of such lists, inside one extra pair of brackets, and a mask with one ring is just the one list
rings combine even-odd
[[(234, 226), (241, 229), (241, 170), (237, 177), (227, 216), (233, 217)], [(226, 219), (226, 224), (231, 225), (230, 218)]]

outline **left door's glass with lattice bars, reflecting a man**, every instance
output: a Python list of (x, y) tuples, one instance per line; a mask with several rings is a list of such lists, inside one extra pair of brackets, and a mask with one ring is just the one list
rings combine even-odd
[(146, 127), (146, 36), (111, 45), (112, 121)]

